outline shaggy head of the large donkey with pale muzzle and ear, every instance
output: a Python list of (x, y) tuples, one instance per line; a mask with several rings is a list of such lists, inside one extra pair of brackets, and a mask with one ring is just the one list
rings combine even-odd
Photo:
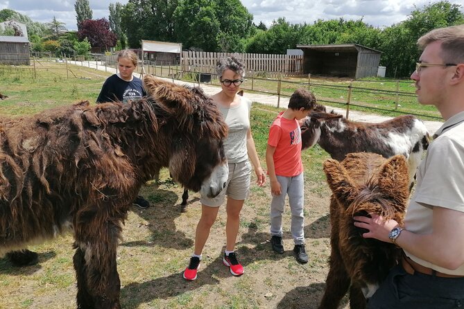
[[(227, 181), (223, 148), (227, 125), (210, 98), (198, 88), (175, 85), (146, 75), (144, 87), (156, 101), (160, 134), (171, 136), (169, 172), (185, 188), (216, 196)], [(162, 116), (161, 116), (162, 115)]]

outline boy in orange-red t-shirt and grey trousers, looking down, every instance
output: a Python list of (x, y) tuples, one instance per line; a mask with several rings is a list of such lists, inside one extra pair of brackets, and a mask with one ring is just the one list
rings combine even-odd
[(301, 129), (299, 121), (306, 117), (316, 103), (311, 92), (297, 89), (292, 94), (289, 107), (275, 118), (270, 126), (266, 164), (270, 179), (270, 243), (273, 251), (283, 254), (282, 214), (285, 197), (289, 195), (292, 213), (291, 234), (295, 247), (293, 252), (300, 263), (307, 263), (304, 249), (304, 177), (301, 161)]

